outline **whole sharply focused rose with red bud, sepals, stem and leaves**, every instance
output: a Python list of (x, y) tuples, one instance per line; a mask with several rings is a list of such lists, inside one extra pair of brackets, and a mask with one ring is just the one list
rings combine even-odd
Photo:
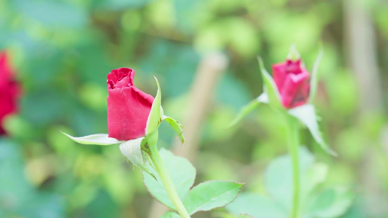
[[(135, 71), (130, 68), (114, 69), (107, 75), (108, 134), (84, 137), (64, 134), (81, 144), (120, 144), (121, 153), (133, 165), (144, 171), (144, 184), (152, 196), (177, 211), (179, 217), (190, 218), (197, 211), (224, 207), (234, 201), (244, 183), (213, 180), (191, 189), (196, 174), (191, 163), (163, 149), (161, 150), (163, 156), (159, 154), (157, 142), (160, 123), (163, 120), (167, 121), (182, 143), (184, 143), (183, 126), (175, 119), (164, 115), (160, 85), (156, 77), (158, 91), (154, 98), (135, 87), (134, 76)], [(149, 161), (147, 164), (144, 164), (143, 157), (147, 157)], [(163, 161), (168, 163), (166, 165), (168, 168)], [(173, 173), (173, 177), (170, 177), (170, 173)], [(166, 216), (178, 215), (170, 211), (162, 217)]]

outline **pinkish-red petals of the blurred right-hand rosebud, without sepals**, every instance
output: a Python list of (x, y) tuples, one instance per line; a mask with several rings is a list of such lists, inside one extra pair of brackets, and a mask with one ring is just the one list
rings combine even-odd
[(301, 66), (300, 59), (273, 64), (272, 72), (284, 107), (293, 108), (306, 104), (310, 92), (310, 73)]

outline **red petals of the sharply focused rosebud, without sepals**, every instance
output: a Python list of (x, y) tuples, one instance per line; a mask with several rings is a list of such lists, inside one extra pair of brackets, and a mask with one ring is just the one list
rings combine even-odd
[(120, 141), (143, 137), (154, 97), (133, 84), (135, 71), (114, 69), (107, 75), (108, 134)]

